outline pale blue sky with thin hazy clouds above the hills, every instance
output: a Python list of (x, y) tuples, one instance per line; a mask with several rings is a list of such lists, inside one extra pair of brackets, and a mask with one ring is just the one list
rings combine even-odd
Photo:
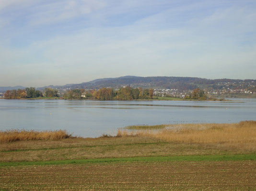
[(256, 79), (256, 0), (0, 0), (0, 86)]

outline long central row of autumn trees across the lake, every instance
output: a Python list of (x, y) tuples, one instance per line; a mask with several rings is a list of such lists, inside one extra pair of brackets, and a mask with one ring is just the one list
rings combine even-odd
[(64, 99), (97, 99), (97, 100), (134, 100), (152, 99), (153, 89), (122, 87), (119, 90), (113, 88), (101, 88), (99, 90), (74, 89), (64, 94)]

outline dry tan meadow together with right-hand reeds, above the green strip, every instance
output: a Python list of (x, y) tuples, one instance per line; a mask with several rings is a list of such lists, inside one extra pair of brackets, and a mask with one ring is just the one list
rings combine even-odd
[(6, 141), (0, 144), (0, 161), (251, 154), (256, 153), (256, 122), (180, 124), (157, 130), (119, 130), (115, 137), (62, 138)]

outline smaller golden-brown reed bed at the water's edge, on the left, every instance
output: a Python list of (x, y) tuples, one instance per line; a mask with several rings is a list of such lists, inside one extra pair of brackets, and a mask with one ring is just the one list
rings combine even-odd
[(8, 143), (20, 140), (60, 140), (70, 138), (66, 130), (35, 131), (25, 129), (11, 129), (0, 131), (0, 143)]

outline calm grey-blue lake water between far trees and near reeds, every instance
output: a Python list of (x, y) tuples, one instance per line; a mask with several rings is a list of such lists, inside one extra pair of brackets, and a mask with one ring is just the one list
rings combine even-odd
[(211, 101), (95, 101), (0, 99), (0, 130), (66, 129), (73, 135), (114, 134), (118, 127), (256, 120), (256, 99)]

